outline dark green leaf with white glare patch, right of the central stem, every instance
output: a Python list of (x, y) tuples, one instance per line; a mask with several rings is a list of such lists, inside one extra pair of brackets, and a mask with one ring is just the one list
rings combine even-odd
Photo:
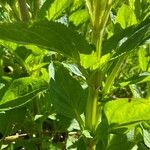
[(150, 19), (137, 26), (123, 29), (104, 41), (103, 53), (113, 53), (113, 57), (118, 57), (134, 50), (148, 39), (150, 39)]

